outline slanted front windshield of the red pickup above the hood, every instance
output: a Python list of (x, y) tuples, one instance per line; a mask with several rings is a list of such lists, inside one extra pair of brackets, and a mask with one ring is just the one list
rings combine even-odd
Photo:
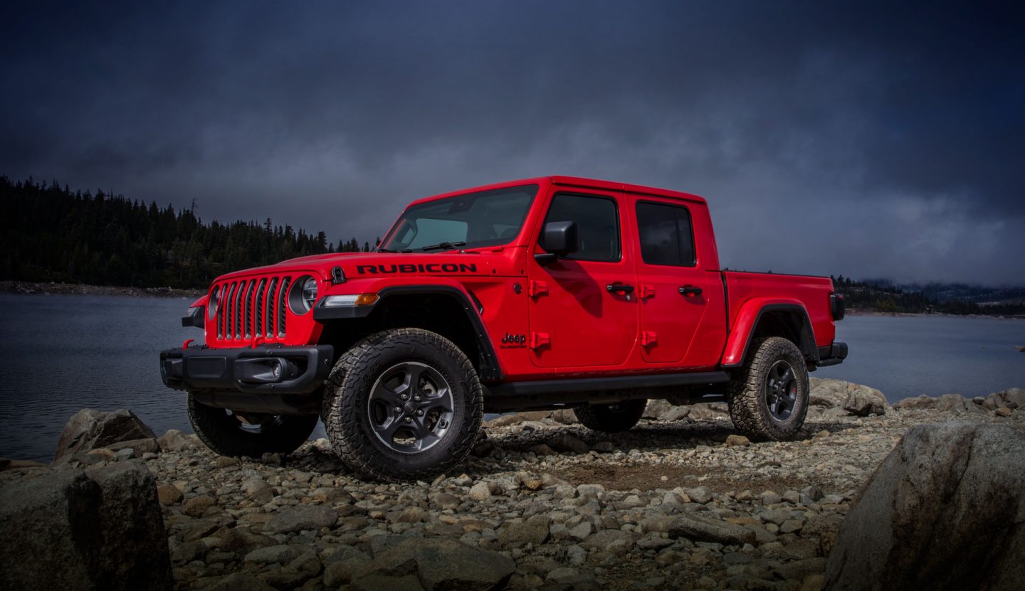
[(496, 188), (414, 205), (402, 213), (378, 250), (427, 252), (507, 244), (520, 234), (537, 188)]

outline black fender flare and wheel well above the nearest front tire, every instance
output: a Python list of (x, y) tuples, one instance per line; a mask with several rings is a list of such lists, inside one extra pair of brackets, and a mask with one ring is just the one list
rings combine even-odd
[(320, 342), (334, 345), (340, 355), (373, 333), (398, 328), (423, 329), (442, 335), (466, 354), (482, 378), (497, 369), (482, 350), (477, 330), (463, 305), (454, 295), (446, 293), (388, 295), (366, 318), (326, 323)]

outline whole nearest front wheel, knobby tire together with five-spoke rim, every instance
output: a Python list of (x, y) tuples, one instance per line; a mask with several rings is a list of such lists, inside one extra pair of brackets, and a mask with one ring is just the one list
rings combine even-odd
[(383, 331), (335, 364), (324, 392), (331, 446), (357, 473), (429, 479), (477, 442), (484, 396), (477, 371), (452, 341), (420, 329)]

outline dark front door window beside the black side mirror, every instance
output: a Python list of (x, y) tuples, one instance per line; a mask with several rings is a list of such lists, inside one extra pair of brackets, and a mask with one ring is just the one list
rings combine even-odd
[[(608, 197), (559, 194), (551, 200), (549, 221), (575, 221), (580, 250), (570, 260), (614, 262), (619, 260), (619, 210)], [(543, 247), (544, 244), (541, 244)]]

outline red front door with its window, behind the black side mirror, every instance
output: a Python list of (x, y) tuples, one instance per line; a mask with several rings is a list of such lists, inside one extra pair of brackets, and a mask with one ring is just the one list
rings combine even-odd
[[(632, 248), (624, 248), (623, 196), (554, 189), (544, 223), (575, 221), (580, 250), (540, 264), (528, 257), (531, 358), (538, 367), (617, 366), (637, 341)], [(543, 253), (538, 244), (531, 255)]]

